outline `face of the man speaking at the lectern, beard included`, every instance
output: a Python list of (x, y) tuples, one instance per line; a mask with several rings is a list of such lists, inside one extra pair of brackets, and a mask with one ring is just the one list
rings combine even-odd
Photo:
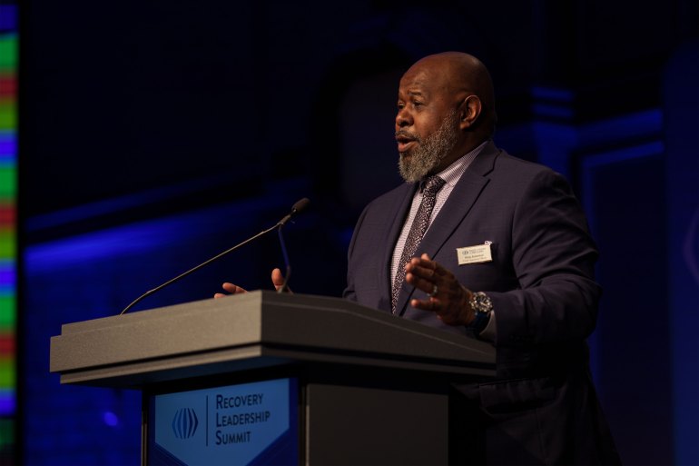
[(458, 113), (449, 105), (447, 86), (424, 66), (413, 66), (400, 80), (396, 141), (399, 172), (407, 182), (437, 173), (458, 145)]

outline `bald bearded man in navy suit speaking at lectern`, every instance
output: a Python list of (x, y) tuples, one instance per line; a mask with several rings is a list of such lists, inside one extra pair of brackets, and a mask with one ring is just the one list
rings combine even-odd
[[(409, 68), (396, 116), (407, 183), (361, 213), (344, 295), (495, 345), (497, 380), (458, 387), (477, 405), (483, 461), (618, 463), (587, 361), (601, 294), (595, 243), (566, 180), (498, 149), (496, 123), (474, 56)], [(282, 280), (275, 269), (272, 282)]]

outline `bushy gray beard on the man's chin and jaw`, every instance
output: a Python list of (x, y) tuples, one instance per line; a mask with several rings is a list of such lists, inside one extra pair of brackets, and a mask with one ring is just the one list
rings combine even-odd
[(418, 147), (409, 153), (409, 160), (399, 155), (399, 174), (408, 183), (416, 183), (438, 167), (444, 157), (451, 152), (458, 143), (458, 113), (448, 114), (438, 130), (430, 134), (423, 141), (417, 138)]

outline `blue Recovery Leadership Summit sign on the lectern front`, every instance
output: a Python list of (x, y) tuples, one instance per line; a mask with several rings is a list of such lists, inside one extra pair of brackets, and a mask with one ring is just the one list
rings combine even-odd
[(155, 394), (149, 465), (299, 464), (295, 378)]

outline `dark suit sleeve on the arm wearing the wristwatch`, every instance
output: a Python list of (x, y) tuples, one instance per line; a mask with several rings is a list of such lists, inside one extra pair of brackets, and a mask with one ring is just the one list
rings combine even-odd
[(519, 289), (488, 292), (496, 310), (496, 346), (582, 341), (593, 332), (602, 292), (594, 279), (597, 255), (565, 178), (548, 170), (536, 174), (512, 218)]

